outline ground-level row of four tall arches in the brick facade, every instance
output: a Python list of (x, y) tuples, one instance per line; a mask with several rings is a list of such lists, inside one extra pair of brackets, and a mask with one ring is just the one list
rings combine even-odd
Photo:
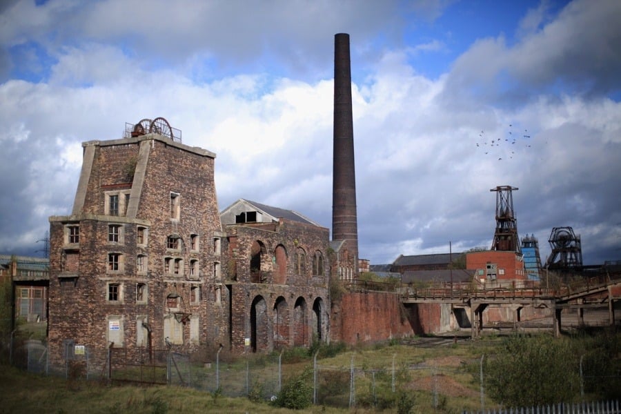
[(301, 296), (292, 307), (282, 296), (268, 306), (266, 299), (258, 295), (250, 306), (250, 347), (253, 352), (264, 352), (311, 345), (313, 339), (322, 340), (326, 336), (326, 315), (321, 297), (309, 308)]

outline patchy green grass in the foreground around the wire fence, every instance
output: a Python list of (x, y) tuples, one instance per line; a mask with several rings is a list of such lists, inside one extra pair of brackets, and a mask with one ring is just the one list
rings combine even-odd
[[(320, 356), (333, 355), (317, 359), (319, 404), (295, 412), (396, 413), (400, 404), (412, 404), (410, 412), (413, 414), (475, 411), (481, 408), (480, 358), (493, 355), (501, 340), (500, 337), (486, 337), (426, 347), (423, 339), (411, 338), (400, 344), (391, 341), (384, 346), (357, 346), (340, 353), (322, 354), (319, 349)], [(313, 351), (297, 349), (283, 353), (283, 385), (304, 370), (312, 369)], [(275, 354), (253, 355), (226, 364), (221, 362), (220, 390), (215, 389), (213, 366), (195, 368), (193, 386), (200, 390), (178, 386), (112, 386), (81, 378), (45, 377), (0, 366), (0, 395), (3, 396), (0, 414), (294, 412), (261, 401), (269, 396), (262, 391), (268, 382), (273, 381), (277, 360)], [(245, 395), (248, 363), (253, 374), (249, 397), (226, 397), (236, 388), (243, 388), (239, 395)], [(352, 364), (355, 373), (353, 394), (350, 385)], [(199, 372), (202, 377), (197, 375)], [(312, 385), (313, 376), (309, 378)], [(352, 396), (355, 408), (348, 408)], [(487, 395), (484, 404), (485, 408), (498, 406)]]

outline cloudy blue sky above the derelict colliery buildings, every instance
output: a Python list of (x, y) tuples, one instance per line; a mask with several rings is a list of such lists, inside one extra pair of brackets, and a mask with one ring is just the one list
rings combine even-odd
[[(147, 5), (148, 4), (148, 5)], [(351, 36), (360, 256), (517, 230), (621, 259), (621, 1), (4, 0), (0, 253), (42, 255), (81, 142), (165, 117), (245, 198), (331, 227), (334, 34)]]

